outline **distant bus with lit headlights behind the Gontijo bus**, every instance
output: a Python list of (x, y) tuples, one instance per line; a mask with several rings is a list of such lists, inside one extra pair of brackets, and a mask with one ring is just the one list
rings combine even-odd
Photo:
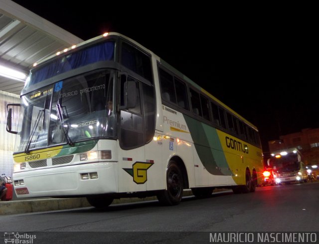
[(277, 183), (307, 182), (307, 169), (297, 148), (273, 152), (268, 165), (273, 167)]

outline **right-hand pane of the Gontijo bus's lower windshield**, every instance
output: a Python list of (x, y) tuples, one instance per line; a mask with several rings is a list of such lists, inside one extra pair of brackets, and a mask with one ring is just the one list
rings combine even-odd
[(113, 76), (113, 72), (93, 72), (54, 84), (51, 144), (115, 136)]

